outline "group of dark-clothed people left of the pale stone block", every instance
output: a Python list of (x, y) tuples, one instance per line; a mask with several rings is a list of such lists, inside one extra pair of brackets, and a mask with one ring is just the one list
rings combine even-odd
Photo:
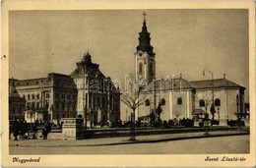
[[(15, 119), (12, 124), (10, 124), (10, 138), (11, 133), (13, 133), (14, 140), (20, 139), (37, 139), (38, 134), (38, 125), (39, 122), (36, 119), (34, 123), (31, 125), (31, 129), (28, 127), (28, 123), (23, 119)], [(30, 132), (31, 130), (31, 132)], [(42, 138), (43, 140), (47, 140), (48, 134), (51, 132), (51, 125), (49, 122), (45, 122), (42, 127)]]

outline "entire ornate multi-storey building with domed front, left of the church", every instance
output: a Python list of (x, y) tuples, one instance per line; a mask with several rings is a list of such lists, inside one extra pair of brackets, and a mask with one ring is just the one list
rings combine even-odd
[[(70, 76), (51, 73), (46, 78), (13, 80), (9, 84), (10, 93), (14, 92), (12, 85), (15, 85), (17, 95), (9, 96), (10, 117), (21, 109), (28, 123), (37, 119), (60, 124), (62, 118), (83, 117), (88, 127), (117, 125), (120, 93), (98, 66), (87, 53)], [(18, 104), (17, 97), (20, 104), (24, 103), (22, 108), (13, 107), (14, 103)]]

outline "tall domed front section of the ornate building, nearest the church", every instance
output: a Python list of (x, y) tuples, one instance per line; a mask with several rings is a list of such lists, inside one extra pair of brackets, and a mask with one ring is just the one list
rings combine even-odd
[(120, 120), (120, 92), (98, 66), (88, 52), (70, 76), (78, 90), (77, 113), (91, 126), (112, 126)]

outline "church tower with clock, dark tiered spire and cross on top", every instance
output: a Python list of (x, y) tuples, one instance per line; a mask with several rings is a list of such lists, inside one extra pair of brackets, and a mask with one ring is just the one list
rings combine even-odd
[(154, 47), (151, 45), (150, 32), (146, 26), (146, 13), (143, 13), (144, 21), (142, 31), (139, 33), (139, 45), (135, 53), (136, 81), (151, 83), (156, 79), (156, 61)]

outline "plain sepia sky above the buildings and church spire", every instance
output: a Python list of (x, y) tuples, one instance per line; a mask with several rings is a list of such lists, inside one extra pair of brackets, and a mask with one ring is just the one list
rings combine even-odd
[(249, 39), (246, 9), (11, 11), (9, 78), (70, 75), (89, 51), (112, 80), (134, 73), (143, 12), (156, 53), (157, 77), (226, 79), (246, 87)]

